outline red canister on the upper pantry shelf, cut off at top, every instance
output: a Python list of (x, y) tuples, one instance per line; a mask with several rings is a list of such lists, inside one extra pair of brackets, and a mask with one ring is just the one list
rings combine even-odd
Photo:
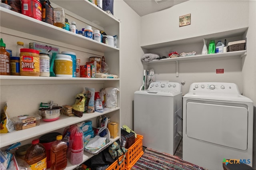
[(21, 0), (21, 13), (42, 21), (42, 4), (40, 0)]

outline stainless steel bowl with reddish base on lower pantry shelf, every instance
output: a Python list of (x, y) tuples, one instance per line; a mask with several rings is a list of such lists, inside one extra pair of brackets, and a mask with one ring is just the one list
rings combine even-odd
[(50, 109), (39, 109), (39, 115), (42, 116), (43, 121), (50, 122), (56, 121), (60, 118), (62, 113), (62, 106), (54, 106)]

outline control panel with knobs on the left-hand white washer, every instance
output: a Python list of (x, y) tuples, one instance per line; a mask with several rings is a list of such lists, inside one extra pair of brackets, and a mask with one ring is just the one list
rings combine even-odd
[(162, 92), (181, 92), (181, 85), (177, 82), (152, 82), (150, 83), (148, 91), (162, 91)]

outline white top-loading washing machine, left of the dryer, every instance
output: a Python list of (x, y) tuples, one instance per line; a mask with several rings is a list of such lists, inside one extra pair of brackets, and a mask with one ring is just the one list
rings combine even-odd
[(180, 83), (153, 82), (134, 93), (134, 131), (143, 146), (174, 154), (182, 139)]

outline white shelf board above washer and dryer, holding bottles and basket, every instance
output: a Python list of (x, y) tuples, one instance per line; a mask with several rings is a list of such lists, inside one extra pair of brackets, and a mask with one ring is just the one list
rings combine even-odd
[(156, 63), (170, 63), (170, 62), (176, 62), (176, 61), (196, 60), (196, 59), (226, 58), (226, 57), (232, 57), (232, 56), (243, 57), (244, 55), (246, 55), (246, 50), (231, 51), (226, 53), (214, 53), (214, 54), (206, 54), (206, 55), (194, 55), (194, 56), (188, 56), (188, 57), (166, 58), (166, 59), (159, 59), (159, 60), (154, 59), (150, 62), (142, 62), (142, 63), (146, 65), (152, 65)]

